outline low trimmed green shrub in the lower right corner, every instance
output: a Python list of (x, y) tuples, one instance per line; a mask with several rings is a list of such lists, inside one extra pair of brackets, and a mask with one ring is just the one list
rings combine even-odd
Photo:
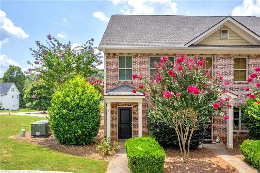
[(260, 170), (260, 140), (247, 139), (239, 147), (245, 160)]

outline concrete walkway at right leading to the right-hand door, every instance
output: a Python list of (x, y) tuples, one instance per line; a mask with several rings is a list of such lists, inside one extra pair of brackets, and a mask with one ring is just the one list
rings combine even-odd
[(222, 159), (224, 159), (229, 164), (233, 165), (241, 173), (257, 173), (254, 169), (250, 168), (240, 159), (236, 158), (232, 154), (229, 154), (226, 150), (226, 145), (221, 143), (214, 144), (203, 144), (202, 147), (207, 148), (215, 152)]

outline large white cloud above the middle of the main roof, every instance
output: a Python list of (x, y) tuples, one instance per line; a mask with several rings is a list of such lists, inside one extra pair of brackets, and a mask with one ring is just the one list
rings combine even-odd
[(171, 0), (128, 0), (127, 4), (125, 9), (119, 10), (127, 15), (177, 15), (178, 11), (177, 4)]

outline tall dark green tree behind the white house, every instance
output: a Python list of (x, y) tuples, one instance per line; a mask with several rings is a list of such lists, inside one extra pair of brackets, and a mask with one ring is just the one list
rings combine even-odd
[(21, 71), (19, 66), (10, 65), (4, 73), (2, 82), (13, 82), (20, 92), (19, 95), (19, 107), (24, 108), (25, 102), (23, 100), (25, 74)]

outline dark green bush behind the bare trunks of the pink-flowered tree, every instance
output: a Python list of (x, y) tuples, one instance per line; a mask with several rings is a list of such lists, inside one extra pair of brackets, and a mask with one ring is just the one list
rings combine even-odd
[[(157, 139), (159, 144), (164, 148), (171, 149), (179, 149), (179, 141), (176, 131), (171, 124), (169, 124), (164, 118), (161, 116), (157, 116), (157, 111), (149, 111), (147, 116), (149, 131), (151, 131), (152, 135)], [(191, 137), (190, 149), (196, 149), (200, 145), (202, 139), (205, 138), (207, 131), (205, 128), (208, 124), (208, 118), (201, 117), (201, 122), (199, 123), (196, 130), (194, 130), (193, 135)], [(179, 128), (180, 130), (180, 128)], [(190, 128), (191, 131), (191, 128)], [(186, 142), (187, 148), (187, 142)]]

